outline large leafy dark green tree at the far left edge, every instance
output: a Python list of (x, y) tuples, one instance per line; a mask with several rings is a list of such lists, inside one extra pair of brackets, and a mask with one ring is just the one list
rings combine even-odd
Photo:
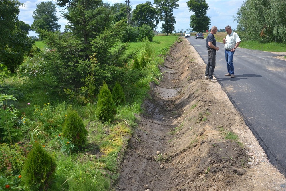
[(30, 25), (18, 20), (19, 6), (23, 3), (17, 0), (0, 1), (0, 64), (12, 73), (32, 48)]

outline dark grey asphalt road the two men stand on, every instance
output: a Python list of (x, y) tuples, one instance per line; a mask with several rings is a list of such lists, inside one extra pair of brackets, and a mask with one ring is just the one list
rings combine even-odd
[[(206, 39), (187, 38), (207, 63)], [(241, 112), (269, 161), (286, 176), (286, 61), (277, 54), (237, 48), (235, 78), (227, 74), (224, 44), (217, 42), (214, 75)]]

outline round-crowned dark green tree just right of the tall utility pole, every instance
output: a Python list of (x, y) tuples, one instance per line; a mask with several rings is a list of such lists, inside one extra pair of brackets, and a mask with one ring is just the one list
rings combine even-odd
[(152, 6), (150, 1), (136, 6), (132, 14), (132, 23), (137, 27), (143, 24), (149, 25), (152, 29), (157, 29), (159, 18), (156, 9)]

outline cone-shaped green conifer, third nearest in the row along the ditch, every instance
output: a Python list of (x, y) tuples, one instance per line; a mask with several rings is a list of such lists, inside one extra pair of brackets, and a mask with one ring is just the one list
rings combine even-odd
[(96, 107), (96, 116), (102, 122), (113, 121), (115, 113), (114, 101), (108, 86), (104, 82), (100, 87)]

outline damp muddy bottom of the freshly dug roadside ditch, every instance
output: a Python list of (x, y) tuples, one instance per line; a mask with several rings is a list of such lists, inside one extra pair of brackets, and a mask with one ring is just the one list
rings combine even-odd
[[(172, 144), (168, 141), (174, 136), (169, 132), (176, 127), (174, 120), (180, 115), (174, 106), (182, 96), (176, 79), (180, 60), (174, 58), (182, 46), (178, 43), (171, 49), (164, 66), (160, 66), (162, 81), (158, 86), (151, 84), (151, 98), (145, 100), (142, 106), (144, 115), (140, 117), (139, 127), (130, 140), (116, 190), (145, 190), (147, 187), (144, 188), (144, 185), (148, 185), (150, 190), (170, 189), (166, 180), (170, 178), (171, 169), (164, 167), (162, 162), (170, 160), (168, 150)], [(157, 155), (157, 151), (161, 154)], [(163, 160), (158, 161), (159, 158)]]

